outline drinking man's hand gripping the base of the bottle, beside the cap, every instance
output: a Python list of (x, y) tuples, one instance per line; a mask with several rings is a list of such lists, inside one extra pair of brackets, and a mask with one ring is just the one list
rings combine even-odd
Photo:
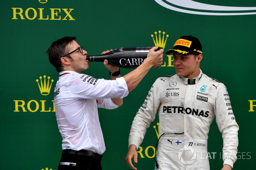
[[(158, 51), (157, 50), (158, 47), (152, 47), (149, 52), (148, 52), (148, 56), (147, 59), (148, 62), (150, 62), (152, 64), (153, 67), (157, 67), (163, 64), (163, 52), (164, 49), (160, 49)], [(145, 61), (146, 61), (145, 60)]]

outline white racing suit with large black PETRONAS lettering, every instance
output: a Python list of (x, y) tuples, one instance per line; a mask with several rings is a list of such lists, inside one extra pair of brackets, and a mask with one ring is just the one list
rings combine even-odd
[(158, 170), (210, 169), (207, 139), (215, 116), (223, 138), (224, 164), (233, 167), (239, 127), (224, 84), (201, 70), (194, 79), (177, 75), (157, 78), (132, 122), (129, 146), (138, 149), (156, 111), (159, 136), (165, 133), (157, 148)]

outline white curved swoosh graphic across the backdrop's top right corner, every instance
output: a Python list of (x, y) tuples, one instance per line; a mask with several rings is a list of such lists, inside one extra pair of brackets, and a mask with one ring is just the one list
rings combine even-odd
[[(192, 0), (155, 0), (158, 4), (173, 11), (197, 15), (254, 15), (256, 7), (219, 6)], [(184, 9), (185, 8), (185, 9)], [(191, 11), (197, 10), (197, 11)], [(203, 12), (200, 10), (206, 10)], [(254, 11), (254, 12), (253, 12)]]

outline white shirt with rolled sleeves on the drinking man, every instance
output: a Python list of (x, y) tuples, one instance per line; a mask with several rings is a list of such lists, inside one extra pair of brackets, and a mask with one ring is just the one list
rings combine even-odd
[(54, 90), (54, 104), (63, 138), (62, 149), (84, 149), (102, 154), (105, 144), (97, 107), (117, 108), (111, 98), (124, 98), (128, 93), (123, 77), (105, 80), (74, 71), (60, 72)]

